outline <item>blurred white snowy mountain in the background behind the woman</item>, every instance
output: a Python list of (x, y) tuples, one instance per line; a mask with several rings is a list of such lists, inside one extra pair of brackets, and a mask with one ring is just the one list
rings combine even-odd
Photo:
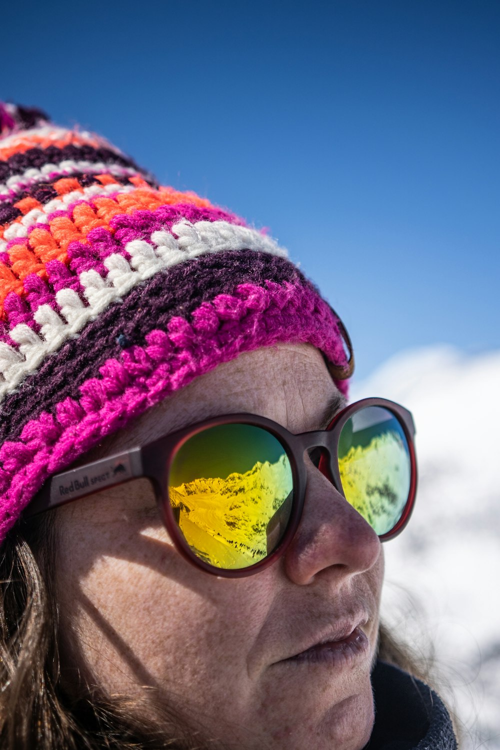
[(414, 642), (427, 631), (466, 724), (463, 747), (490, 750), (500, 748), (499, 388), (499, 352), (436, 347), (391, 359), (351, 394), (400, 401), (415, 417), (418, 499), (385, 545), (383, 613)]

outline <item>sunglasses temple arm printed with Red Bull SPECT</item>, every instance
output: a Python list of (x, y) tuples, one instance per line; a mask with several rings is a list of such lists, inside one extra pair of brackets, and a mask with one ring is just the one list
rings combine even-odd
[(93, 463), (85, 463), (85, 466), (78, 466), (76, 469), (53, 476), (28, 505), (24, 515), (36, 515), (78, 497), (143, 475), (140, 448), (101, 458)]

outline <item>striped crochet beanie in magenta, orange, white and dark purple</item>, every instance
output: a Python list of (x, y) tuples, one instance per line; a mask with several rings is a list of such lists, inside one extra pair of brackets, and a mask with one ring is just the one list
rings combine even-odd
[(349, 338), (264, 232), (100, 136), (0, 104), (0, 541), (51, 474), (193, 378)]

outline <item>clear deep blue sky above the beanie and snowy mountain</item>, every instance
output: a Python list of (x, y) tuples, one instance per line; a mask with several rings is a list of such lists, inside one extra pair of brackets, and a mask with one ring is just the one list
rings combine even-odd
[(358, 377), (500, 347), (497, 0), (27, 1), (0, 26), (0, 98), (268, 226)]

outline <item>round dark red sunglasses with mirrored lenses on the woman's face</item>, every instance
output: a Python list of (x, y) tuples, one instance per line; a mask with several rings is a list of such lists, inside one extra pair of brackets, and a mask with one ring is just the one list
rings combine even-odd
[(306, 453), (382, 541), (399, 534), (415, 501), (414, 436), (411, 413), (382, 398), (298, 435), (264, 417), (220, 416), (53, 476), (28, 515), (147, 477), (178, 551), (208, 573), (246, 576), (271, 565), (297, 531)]

